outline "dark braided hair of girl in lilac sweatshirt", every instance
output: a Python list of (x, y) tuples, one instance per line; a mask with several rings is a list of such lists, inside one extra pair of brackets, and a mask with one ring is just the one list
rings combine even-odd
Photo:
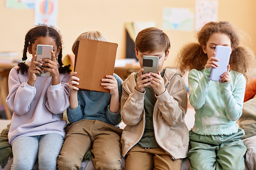
[[(61, 47), (60, 53), (58, 55), (58, 63), (60, 65), (60, 67), (58, 68), (59, 73), (70, 73), (70, 65), (65, 65), (64, 67), (62, 67), (62, 41), (61, 41), (61, 34), (58, 31), (57, 28), (55, 28), (54, 26), (47, 26), (46, 24), (40, 24), (35, 26), (34, 28), (30, 29), (26, 36), (25, 36), (25, 44), (24, 44), (24, 49), (23, 49), (23, 57), (22, 57), (22, 61), (25, 61), (27, 59), (26, 53), (28, 50), (28, 45), (29, 44), (33, 44), (35, 42), (35, 40), (38, 37), (52, 37), (55, 40), (55, 43), (57, 45), (57, 47)], [(25, 74), (25, 72), (28, 71), (29, 67), (23, 63), (23, 62), (19, 62), (18, 63), (19, 68), (17, 69), (17, 72), (19, 73), (19, 71), (21, 71), (22, 74)]]

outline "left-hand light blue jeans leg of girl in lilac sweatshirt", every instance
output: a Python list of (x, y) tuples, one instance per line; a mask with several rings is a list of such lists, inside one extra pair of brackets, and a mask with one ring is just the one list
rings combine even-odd
[(38, 156), (38, 136), (20, 136), (12, 144), (12, 170), (31, 170)]

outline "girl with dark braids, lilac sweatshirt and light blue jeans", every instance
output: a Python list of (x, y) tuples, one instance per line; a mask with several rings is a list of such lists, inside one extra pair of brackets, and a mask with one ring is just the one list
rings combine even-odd
[[(35, 61), (39, 44), (53, 46), (52, 60)], [(33, 56), (31, 62), (25, 62), (27, 51)], [(13, 152), (12, 170), (31, 170), (37, 159), (40, 170), (56, 169), (65, 136), (63, 112), (69, 106), (70, 95), (70, 65), (63, 65), (61, 58), (61, 35), (56, 28), (38, 25), (28, 31), (23, 62), (12, 68), (9, 74), (6, 99), (13, 113), (8, 134)], [(38, 65), (48, 68), (39, 68)], [(36, 76), (43, 70), (49, 71), (51, 77)]]

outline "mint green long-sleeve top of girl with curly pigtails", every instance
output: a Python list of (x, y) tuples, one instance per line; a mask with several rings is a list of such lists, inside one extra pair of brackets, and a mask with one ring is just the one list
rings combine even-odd
[(230, 135), (238, 132), (246, 80), (230, 71), (231, 82), (210, 80), (211, 68), (189, 72), (189, 101), (195, 108), (192, 131), (202, 135)]

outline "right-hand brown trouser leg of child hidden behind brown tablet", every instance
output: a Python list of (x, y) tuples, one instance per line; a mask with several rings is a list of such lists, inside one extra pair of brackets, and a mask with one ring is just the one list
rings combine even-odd
[(91, 150), (96, 170), (121, 170), (121, 134), (122, 129), (96, 120)]

